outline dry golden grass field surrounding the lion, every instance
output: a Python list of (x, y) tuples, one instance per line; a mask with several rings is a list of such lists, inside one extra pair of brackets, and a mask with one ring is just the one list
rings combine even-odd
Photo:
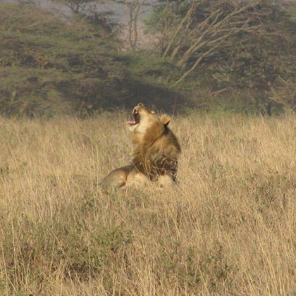
[(296, 118), (175, 117), (179, 184), (102, 195), (127, 117), (0, 118), (0, 295), (296, 295)]

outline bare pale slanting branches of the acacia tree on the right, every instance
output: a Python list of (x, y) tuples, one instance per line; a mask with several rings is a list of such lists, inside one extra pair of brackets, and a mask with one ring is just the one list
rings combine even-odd
[[(187, 4), (166, 4), (164, 35), (160, 39), (162, 56), (178, 56), (177, 66), (185, 69), (175, 81), (180, 83), (202, 60), (239, 33), (259, 30), (261, 23), (254, 1), (189, 1)], [(178, 7), (179, 6), (179, 7)], [(180, 10), (175, 17), (175, 9)], [(170, 18), (173, 18), (170, 22)]]

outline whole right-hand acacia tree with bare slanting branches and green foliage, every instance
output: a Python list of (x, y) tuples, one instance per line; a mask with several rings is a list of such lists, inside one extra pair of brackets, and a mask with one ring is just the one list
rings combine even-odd
[(180, 69), (173, 85), (199, 76), (214, 93), (252, 94), (260, 109), (276, 102), (279, 75), (295, 81), (295, 23), (288, 30), (287, 20), (284, 1), (173, 0), (161, 1), (149, 26), (159, 54)]

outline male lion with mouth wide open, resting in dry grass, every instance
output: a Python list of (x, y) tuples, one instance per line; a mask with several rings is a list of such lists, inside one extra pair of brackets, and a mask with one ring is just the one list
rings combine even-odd
[(113, 189), (128, 185), (144, 185), (149, 181), (175, 182), (180, 144), (168, 128), (171, 118), (157, 116), (142, 103), (132, 110), (133, 121), (128, 121), (134, 145), (132, 164), (111, 171), (101, 186)]

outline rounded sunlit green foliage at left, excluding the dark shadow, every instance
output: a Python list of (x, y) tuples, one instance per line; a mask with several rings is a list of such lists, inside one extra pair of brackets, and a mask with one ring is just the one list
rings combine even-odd
[(2, 112), (51, 116), (116, 96), (125, 71), (115, 39), (40, 9), (2, 4), (0, 14)]

